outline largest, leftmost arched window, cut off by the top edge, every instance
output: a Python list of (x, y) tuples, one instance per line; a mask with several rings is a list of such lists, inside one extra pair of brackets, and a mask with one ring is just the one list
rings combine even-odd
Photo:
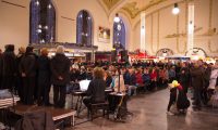
[(32, 0), (29, 43), (49, 43), (56, 40), (56, 9), (51, 0)]

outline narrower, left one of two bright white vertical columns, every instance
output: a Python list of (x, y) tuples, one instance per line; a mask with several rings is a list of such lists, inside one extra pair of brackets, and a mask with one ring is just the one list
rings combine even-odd
[(145, 51), (145, 13), (141, 13), (141, 51)]

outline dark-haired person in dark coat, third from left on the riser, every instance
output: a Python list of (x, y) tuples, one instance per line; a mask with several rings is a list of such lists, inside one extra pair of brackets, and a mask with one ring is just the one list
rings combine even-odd
[(25, 55), (20, 63), (20, 73), (23, 78), (24, 104), (34, 104), (34, 90), (36, 87), (36, 57), (33, 53), (34, 48), (27, 47)]

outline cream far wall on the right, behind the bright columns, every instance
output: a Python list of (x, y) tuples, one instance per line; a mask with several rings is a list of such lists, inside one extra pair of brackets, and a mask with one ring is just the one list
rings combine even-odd
[[(213, 8), (209, 9), (209, 2), (213, 1)], [(184, 55), (186, 52), (186, 24), (187, 8), (183, 0), (179, 3), (180, 13), (173, 15), (171, 10), (173, 4), (157, 9), (153, 13), (146, 15), (146, 50), (149, 54), (155, 55), (158, 50), (169, 48), (174, 54)], [(218, 55), (218, 1), (217, 0), (194, 0), (195, 4), (195, 31), (194, 47), (202, 48), (208, 56)], [(216, 35), (206, 36), (209, 29), (209, 13), (211, 12), (210, 28), (216, 28)], [(159, 17), (159, 18), (158, 18)], [(137, 41), (141, 26), (134, 28), (134, 41)], [(184, 36), (173, 37), (180, 34)], [(166, 38), (172, 36), (171, 38)], [(138, 43), (140, 47), (140, 42)], [(136, 46), (137, 47), (137, 46)]]

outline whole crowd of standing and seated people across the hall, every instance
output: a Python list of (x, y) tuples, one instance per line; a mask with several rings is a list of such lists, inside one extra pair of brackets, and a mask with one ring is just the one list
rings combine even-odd
[[(131, 64), (101, 61), (80, 63), (66, 57), (62, 46), (57, 48), (52, 57), (48, 56), (46, 48), (40, 50), (39, 55), (33, 50), (33, 47), (20, 48), (19, 54), (15, 55), (14, 46), (9, 44), (5, 46), (4, 52), (0, 52), (0, 88), (16, 92), (21, 102), (28, 105), (51, 105), (49, 92), (52, 86), (55, 107), (64, 107), (66, 84), (84, 79), (92, 80), (87, 92), (94, 98), (84, 101), (86, 106), (92, 101), (105, 99), (98, 93), (105, 88), (112, 88), (117, 92), (132, 96), (137, 94), (138, 90), (155, 91), (158, 88), (167, 88), (169, 82), (178, 80), (185, 94), (190, 87), (194, 89), (193, 105), (201, 109), (201, 102), (207, 104), (217, 83), (217, 66), (203, 61), (178, 64), (141, 61)], [(98, 69), (94, 69), (95, 67)], [(96, 84), (100, 84), (97, 90), (90, 89)]]

